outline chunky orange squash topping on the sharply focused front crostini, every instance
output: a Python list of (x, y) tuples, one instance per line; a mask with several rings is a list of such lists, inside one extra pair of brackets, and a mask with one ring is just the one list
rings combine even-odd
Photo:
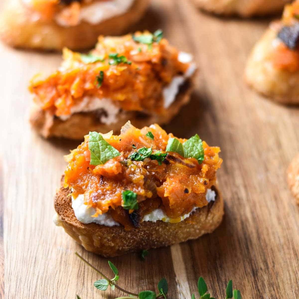
[[(94, 165), (90, 133), (66, 156), (64, 178), (74, 200), (84, 194), (84, 203), (96, 211), (94, 216), (109, 212), (116, 222), (130, 227), (157, 208), (176, 219), (208, 204), (207, 190), (216, 183), (216, 170), (222, 163), (219, 147), (209, 147), (199, 138), (197, 143), (190, 143), (192, 138), (174, 138), (157, 124), (137, 129), (127, 123), (119, 136), (112, 132), (101, 136), (102, 157), (109, 151), (114, 157)], [(174, 139), (177, 144), (173, 148), (184, 147), (183, 152), (167, 151)], [(139, 159), (140, 149), (151, 155)], [(202, 150), (202, 159), (196, 156), (196, 150)], [(126, 207), (126, 192), (134, 195), (135, 207)]]

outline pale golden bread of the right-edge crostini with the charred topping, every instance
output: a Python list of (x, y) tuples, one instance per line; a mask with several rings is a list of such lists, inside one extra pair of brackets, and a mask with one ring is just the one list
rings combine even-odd
[(298, 104), (299, 71), (276, 69), (271, 61), (272, 42), (278, 30), (279, 26), (270, 26), (254, 46), (245, 68), (245, 80), (256, 91), (276, 102)]

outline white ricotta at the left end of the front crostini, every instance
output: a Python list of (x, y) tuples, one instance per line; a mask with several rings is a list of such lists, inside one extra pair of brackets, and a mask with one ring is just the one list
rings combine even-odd
[(87, 224), (94, 222), (105, 226), (120, 225), (118, 222), (113, 220), (109, 212), (93, 217), (92, 215), (96, 213), (96, 210), (94, 208), (88, 208), (87, 205), (84, 204), (83, 194), (80, 194), (76, 199), (72, 197), (72, 208), (75, 212), (76, 218), (82, 223)]

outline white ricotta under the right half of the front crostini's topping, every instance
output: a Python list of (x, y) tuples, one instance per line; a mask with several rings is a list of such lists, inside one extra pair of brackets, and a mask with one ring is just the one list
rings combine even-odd
[[(208, 202), (215, 201), (216, 193), (215, 191), (208, 189), (206, 194), (206, 199)], [(156, 222), (157, 220), (162, 220), (163, 222), (181, 222), (184, 219), (188, 218), (190, 214), (192, 214), (197, 207), (194, 207), (190, 213), (184, 214), (183, 216), (179, 217), (179, 219), (172, 219), (169, 218), (166, 213), (162, 209), (155, 209), (151, 213), (144, 216), (143, 221), (151, 221)]]

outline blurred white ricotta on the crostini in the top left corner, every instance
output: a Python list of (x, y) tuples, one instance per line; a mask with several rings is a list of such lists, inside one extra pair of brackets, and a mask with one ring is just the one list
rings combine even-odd
[[(134, 1), (135, 0), (95, 1), (81, 8), (79, 22), (86, 21), (90, 24), (98, 24), (107, 19), (119, 16), (126, 13)], [(69, 26), (60, 14), (57, 15), (55, 19), (60, 26)]]

